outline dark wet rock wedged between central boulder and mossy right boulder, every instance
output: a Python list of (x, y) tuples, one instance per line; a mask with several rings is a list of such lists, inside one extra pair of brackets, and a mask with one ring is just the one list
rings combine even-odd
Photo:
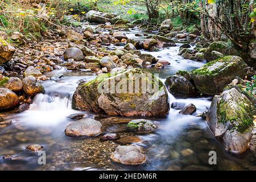
[(170, 76), (164, 82), (167, 89), (177, 96), (196, 96), (197, 90), (193, 84), (183, 76)]

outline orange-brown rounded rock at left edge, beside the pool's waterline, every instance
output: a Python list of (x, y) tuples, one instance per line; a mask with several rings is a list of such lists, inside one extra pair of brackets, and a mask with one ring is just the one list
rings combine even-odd
[(0, 88), (0, 110), (11, 109), (19, 102), (18, 96), (7, 88)]

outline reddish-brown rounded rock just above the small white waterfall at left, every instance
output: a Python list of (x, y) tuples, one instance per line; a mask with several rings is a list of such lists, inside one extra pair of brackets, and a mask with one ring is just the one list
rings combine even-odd
[(38, 93), (44, 93), (44, 87), (36, 81), (34, 76), (26, 76), (22, 80), (24, 92), (29, 96), (35, 96)]

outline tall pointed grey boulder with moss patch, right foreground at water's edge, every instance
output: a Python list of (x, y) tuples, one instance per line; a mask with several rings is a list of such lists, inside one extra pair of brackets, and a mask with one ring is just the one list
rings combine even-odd
[(207, 113), (207, 123), (216, 138), (223, 139), (227, 150), (243, 153), (247, 150), (254, 126), (255, 107), (237, 89), (214, 96)]

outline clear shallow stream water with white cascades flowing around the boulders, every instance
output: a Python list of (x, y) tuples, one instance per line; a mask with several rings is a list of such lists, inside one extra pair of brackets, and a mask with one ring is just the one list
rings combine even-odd
[[(134, 32), (130, 33), (133, 36)], [(180, 46), (180, 44), (178, 45)], [(161, 70), (148, 68), (159, 73), (164, 81), (179, 69), (191, 71), (204, 63), (185, 60), (177, 56), (179, 47), (171, 47), (160, 52), (147, 52), (171, 65)], [(183, 169), (256, 169), (255, 158), (246, 152), (232, 155), (226, 152), (222, 143), (210, 132), (204, 119), (196, 114), (208, 110), (212, 98), (175, 98), (169, 93), (172, 102), (185, 102), (197, 107), (193, 115), (181, 115), (179, 110), (171, 109), (166, 117), (148, 118), (156, 122), (159, 130), (152, 134), (138, 135), (144, 148), (147, 162), (139, 166), (125, 166), (113, 163), (109, 156), (117, 146), (114, 142), (100, 142), (95, 138), (72, 138), (65, 136), (64, 130), (72, 122), (68, 115), (81, 113), (71, 108), (71, 98), (81, 80), (92, 80), (92, 73), (67, 72), (64, 69), (49, 74), (64, 73), (58, 81), (44, 81), (46, 94), (34, 98), (30, 109), (21, 114), (12, 114), (11, 125), (0, 130), (0, 170), (183, 170)], [(126, 123), (134, 118), (106, 117), (86, 113), (104, 123), (104, 131), (125, 133)], [(29, 144), (42, 144), (47, 155), (47, 164), (38, 164), (39, 156), (27, 151)], [(217, 165), (208, 164), (209, 151), (217, 152)], [(3, 160), (1, 156), (13, 155), (19, 160)]]

